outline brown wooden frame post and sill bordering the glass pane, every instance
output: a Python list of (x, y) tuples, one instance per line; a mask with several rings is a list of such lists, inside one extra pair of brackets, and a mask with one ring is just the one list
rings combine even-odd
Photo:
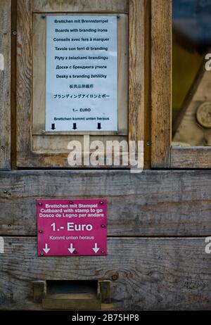
[(172, 146), (172, 0), (152, 0), (151, 14), (151, 167), (210, 168), (211, 146)]

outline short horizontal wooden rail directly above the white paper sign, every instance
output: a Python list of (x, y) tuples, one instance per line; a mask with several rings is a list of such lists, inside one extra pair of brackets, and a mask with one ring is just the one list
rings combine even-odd
[(41, 12), (107, 12), (128, 11), (128, 0), (32, 0), (33, 11)]

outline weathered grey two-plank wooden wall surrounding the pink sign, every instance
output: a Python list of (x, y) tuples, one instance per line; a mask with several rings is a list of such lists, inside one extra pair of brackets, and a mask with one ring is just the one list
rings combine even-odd
[[(0, 174), (0, 309), (39, 310), (34, 280), (111, 281), (108, 310), (209, 310), (210, 171)], [(37, 198), (108, 198), (108, 256), (37, 257)]]

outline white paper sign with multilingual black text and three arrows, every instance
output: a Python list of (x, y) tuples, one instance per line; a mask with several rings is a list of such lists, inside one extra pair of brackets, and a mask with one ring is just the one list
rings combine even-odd
[(117, 131), (117, 17), (49, 15), (46, 131)]

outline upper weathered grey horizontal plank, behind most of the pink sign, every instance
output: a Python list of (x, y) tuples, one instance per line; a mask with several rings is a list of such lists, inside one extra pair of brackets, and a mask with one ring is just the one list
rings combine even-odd
[(36, 236), (38, 198), (105, 197), (109, 236), (210, 236), (210, 176), (208, 170), (1, 172), (0, 235)]

